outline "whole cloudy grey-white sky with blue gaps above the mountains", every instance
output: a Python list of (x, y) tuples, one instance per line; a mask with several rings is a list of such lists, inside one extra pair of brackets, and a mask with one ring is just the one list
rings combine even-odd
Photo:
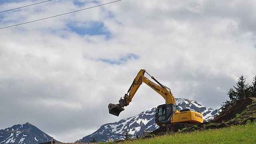
[[(0, 11), (43, 0), (0, 0)], [(52, 0), (0, 13), (0, 28), (111, 0)], [(142, 84), (108, 113), (140, 69), (175, 98), (220, 108), (256, 75), (255, 0), (122, 0), (0, 29), (0, 129), (30, 122), (61, 142), (135, 116), (164, 99)]]

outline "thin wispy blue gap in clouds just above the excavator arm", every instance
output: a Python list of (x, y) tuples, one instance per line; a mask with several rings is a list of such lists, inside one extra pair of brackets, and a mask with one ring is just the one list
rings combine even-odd
[(108, 64), (123, 64), (129, 60), (132, 60), (132, 59), (138, 59), (140, 58), (138, 55), (136, 54), (127, 54), (125, 56), (122, 56), (121, 58), (119, 58), (118, 60), (111, 60), (111, 59), (99, 59), (100, 61), (102, 62), (106, 62)]

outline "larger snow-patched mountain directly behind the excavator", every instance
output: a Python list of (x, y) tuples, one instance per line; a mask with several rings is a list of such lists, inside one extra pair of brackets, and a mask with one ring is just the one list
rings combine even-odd
[[(188, 100), (184, 98), (176, 98), (177, 106), (182, 109), (192, 109), (199, 111), (204, 116), (204, 121), (213, 119), (218, 110), (214, 110), (210, 107), (202, 106), (194, 100)], [(153, 131), (159, 126), (155, 124), (156, 107), (150, 108), (141, 112), (137, 116), (133, 116), (127, 119), (122, 119), (118, 122), (108, 123), (100, 126), (100, 128), (82, 138), (82, 142), (90, 142), (92, 138), (96, 138), (97, 141), (106, 141), (108, 138), (111, 140), (123, 139), (124, 132), (128, 130), (132, 137), (140, 135), (144, 130)]]

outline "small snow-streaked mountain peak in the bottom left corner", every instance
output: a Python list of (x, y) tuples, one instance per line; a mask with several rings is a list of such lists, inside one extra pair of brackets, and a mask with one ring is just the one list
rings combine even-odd
[(0, 130), (0, 144), (39, 144), (50, 141), (51, 136), (28, 122)]

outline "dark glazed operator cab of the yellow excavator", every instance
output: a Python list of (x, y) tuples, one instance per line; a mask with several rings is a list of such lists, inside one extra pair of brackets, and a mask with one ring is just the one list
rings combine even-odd
[(156, 111), (156, 124), (170, 124), (170, 118), (174, 114), (175, 110), (178, 110), (178, 106), (174, 104), (162, 104), (158, 106)]

